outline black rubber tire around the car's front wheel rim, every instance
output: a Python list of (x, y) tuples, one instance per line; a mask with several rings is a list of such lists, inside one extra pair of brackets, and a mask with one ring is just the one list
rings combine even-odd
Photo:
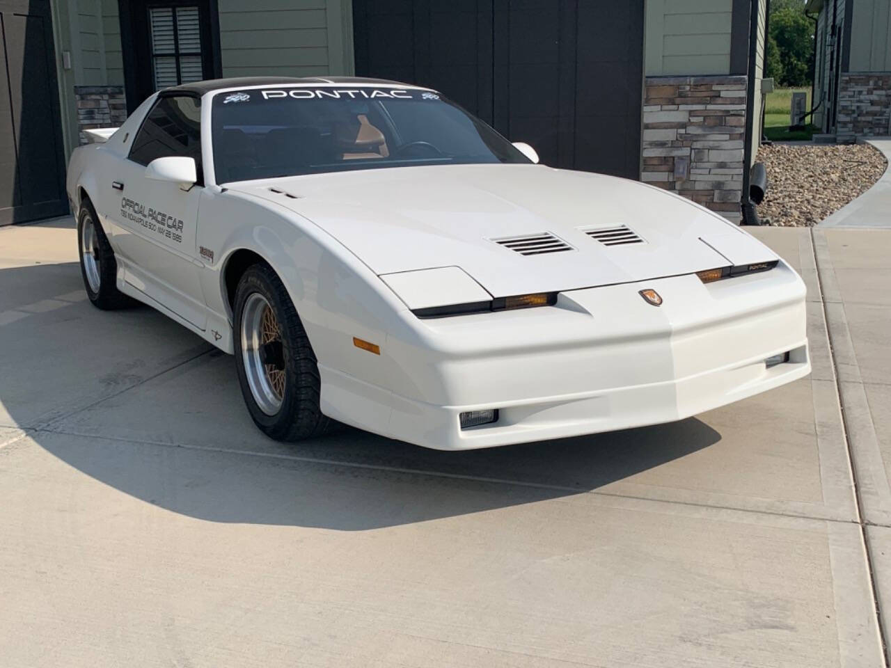
[[(281, 357), (277, 360), (284, 374), (284, 392), (281, 407), (273, 415), (260, 408), (251, 391), (242, 347), (241, 331), (245, 317), (245, 305), (249, 297), (258, 293), (266, 299), (278, 322), (281, 335)], [(321, 436), (331, 425), (319, 407), (322, 381), (313, 347), (307, 331), (284, 288), (281, 279), (268, 265), (252, 265), (241, 276), (235, 289), (233, 305), (235, 344), (235, 368), (241, 394), (248, 406), (250, 417), (266, 436), (276, 441), (300, 441)]]

